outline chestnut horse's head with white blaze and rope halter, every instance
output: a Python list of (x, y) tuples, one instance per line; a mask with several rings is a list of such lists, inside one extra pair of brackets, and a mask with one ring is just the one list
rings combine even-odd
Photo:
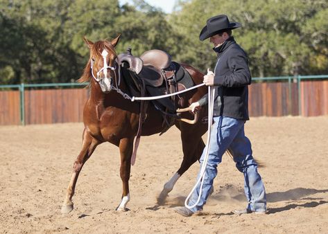
[[(107, 40), (91, 42), (87, 38), (83, 38), (85, 44), (89, 46), (90, 58), (79, 81), (86, 81), (93, 78), (94, 82), (100, 85), (101, 91), (104, 93), (110, 92), (113, 80), (116, 78), (116, 69), (118, 66), (114, 47), (119, 42), (120, 36), (118, 35), (111, 42)], [(90, 74), (92, 77), (90, 77)]]

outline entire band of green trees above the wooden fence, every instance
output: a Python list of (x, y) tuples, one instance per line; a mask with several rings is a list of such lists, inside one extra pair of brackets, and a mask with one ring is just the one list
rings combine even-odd
[(216, 55), (200, 30), (209, 17), (226, 14), (248, 53), (253, 76), (328, 73), (328, 3), (323, 0), (178, 0), (166, 15), (143, 0), (0, 0), (1, 84), (71, 82), (88, 58), (83, 37), (112, 39), (118, 53), (152, 48), (202, 71)]

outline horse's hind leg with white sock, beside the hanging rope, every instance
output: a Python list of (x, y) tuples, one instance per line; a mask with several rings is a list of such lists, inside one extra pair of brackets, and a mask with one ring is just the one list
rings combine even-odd
[[(194, 138), (192, 137), (194, 135)], [(181, 132), (182, 139), (182, 150), (183, 150), (183, 160), (180, 165), (178, 172), (176, 172), (173, 177), (164, 184), (162, 192), (157, 197), (157, 204), (164, 204), (166, 197), (169, 192), (173, 190), (175, 183), (181, 177), (181, 175), (186, 172), (193, 163), (195, 163), (204, 150), (205, 144), (202, 141), (201, 136), (196, 136), (196, 134), (187, 134), (186, 132)]]

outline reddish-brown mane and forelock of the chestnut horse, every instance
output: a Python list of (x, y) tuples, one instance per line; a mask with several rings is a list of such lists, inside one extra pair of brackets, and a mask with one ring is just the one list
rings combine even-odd
[(90, 45), (89, 48), (90, 48), (89, 61), (87, 62), (87, 65), (85, 65), (85, 69), (83, 69), (83, 74), (81, 75), (80, 79), (78, 79), (78, 82), (80, 83), (88, 82), (92, 78), (92, 73), (91, 73), (92, 58), (94, 58), (95, 61), (102, 59), (101, 52), (104, 49), (107, 49), (107, 51), (112, 51), (112, 53), (114, 53), (114, 55), (116, 56), (114, 46), (107, 40), (94, 42), (94, 44)]

